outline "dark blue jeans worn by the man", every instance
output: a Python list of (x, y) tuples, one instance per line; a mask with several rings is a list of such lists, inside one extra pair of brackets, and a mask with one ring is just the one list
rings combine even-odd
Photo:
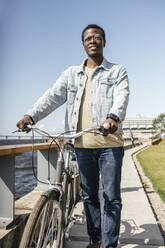
[[(102, 240), (102, 247), (116, 247), (121, 217), (121, 167), (123, 147), (75, 148), (79, 166), (83, 203), (90, 240)], [(101, 210), (98, 196), (99, 173), (101, 173), (104, 212), (101, 228)]]

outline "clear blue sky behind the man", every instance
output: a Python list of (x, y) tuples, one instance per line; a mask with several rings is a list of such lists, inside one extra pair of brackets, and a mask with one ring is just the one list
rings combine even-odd
[[(104, 56), (127, 68), (127, 117), (165, 112), (164, 0), (0, 0), (0, 134), (11, 134), (60, 73), (86, 58), (82, 29), (106, 32)], [(60, 130), (65, 106), (38, 126)]]

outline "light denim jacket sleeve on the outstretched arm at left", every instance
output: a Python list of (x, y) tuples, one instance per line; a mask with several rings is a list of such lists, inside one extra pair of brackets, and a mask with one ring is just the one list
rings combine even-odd
[(26, 112), (30, 115), (34, 122), (45, 118), (67, 100), (67, 84), (68, 84), (69, 68), (64, 71), (54, 83), (52, 88), (49, 88), (43, 96)]

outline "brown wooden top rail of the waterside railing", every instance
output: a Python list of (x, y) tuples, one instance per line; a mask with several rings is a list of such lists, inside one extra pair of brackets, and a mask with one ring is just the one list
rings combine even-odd
[[(34, 144), (34, 150), (48, 149), (49, 146), (50, 146), (50, 143)], [(57, 145), (51, 144), (51, 148), (57, 148)], [(31, 144), (0, 146), (0, 156), (19, 154), (19, 153), (30, 152), (30, 151), (32, 151)]]

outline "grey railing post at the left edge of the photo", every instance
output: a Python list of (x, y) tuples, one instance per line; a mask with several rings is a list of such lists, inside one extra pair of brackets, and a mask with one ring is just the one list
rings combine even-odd
[(14, 218), (15, 156), (0, 156), (0, 228)]

